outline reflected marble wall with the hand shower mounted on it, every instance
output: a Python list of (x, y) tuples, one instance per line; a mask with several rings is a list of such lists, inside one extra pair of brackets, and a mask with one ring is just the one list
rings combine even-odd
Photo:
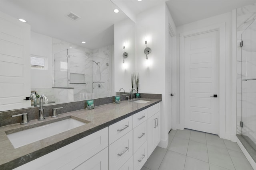
[(111, 46), (92, 51), (92, 91), (94, 98), (110, 96), (110, 55)]

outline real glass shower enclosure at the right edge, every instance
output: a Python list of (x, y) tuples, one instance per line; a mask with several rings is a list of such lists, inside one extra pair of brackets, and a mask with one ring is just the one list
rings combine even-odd
[[(256, 21), (241, 34), (238, 59), (237, 134), (256, 150)], [(242, 142), (241, 141), (241, 142)], [(252, 157), (255, 157), (252, 156)]]

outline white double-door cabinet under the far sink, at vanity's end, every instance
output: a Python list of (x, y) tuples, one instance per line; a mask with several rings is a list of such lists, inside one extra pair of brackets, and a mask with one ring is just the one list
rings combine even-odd
[(148, 107), (148, 157), (160, 142), (160, 103)]

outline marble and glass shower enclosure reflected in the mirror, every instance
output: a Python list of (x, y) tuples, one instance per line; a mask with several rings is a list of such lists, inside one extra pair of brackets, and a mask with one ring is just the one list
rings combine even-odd
[[(57, 102), (101, 98), (108, 95), (108, 59), (94, 52), (65, 49), (54, 54), (54, 87)], [(105, 92), (106, 91), (106, 92)], [(67, 98), (68, 101), (61, 101)]]

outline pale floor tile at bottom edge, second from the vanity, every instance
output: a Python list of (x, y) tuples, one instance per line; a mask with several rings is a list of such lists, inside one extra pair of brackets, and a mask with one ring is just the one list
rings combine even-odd
[(186, 155), (168, 150), (158, 170), (184, 170)]

